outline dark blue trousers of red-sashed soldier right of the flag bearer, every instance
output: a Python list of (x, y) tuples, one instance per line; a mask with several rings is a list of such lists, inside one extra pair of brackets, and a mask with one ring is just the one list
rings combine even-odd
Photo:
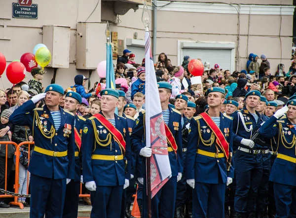
[(193, 218), (224, 218), (226, 184), (195, 182), (192, 193)]

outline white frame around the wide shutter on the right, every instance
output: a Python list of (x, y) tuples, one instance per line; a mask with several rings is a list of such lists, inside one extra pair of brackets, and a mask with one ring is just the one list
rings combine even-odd
[(188, 41), (188, 40), (178, 40), (178, 66), (182, 64), (183, 58), (181, 56), (183, 48), (197, 48), (197, 49), (231, 49), (231, 60), (230, 60), (230, 72), (235, 71), (235, 42), (227, 41)]

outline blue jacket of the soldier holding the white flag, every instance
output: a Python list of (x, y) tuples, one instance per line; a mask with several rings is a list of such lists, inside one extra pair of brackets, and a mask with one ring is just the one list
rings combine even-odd
[[(169, 152), (169, 160), (172, 170), (172, 177), (178, 176), (178, 173), (183, 173), (183, 153), (182, 153), (182, 125), (181, 125), (181, 113), (176, 110), (170, 108), (170, 119), (168, 127), (171, 130), (176, 144), (178, 146), (177, 156), (174, 151)], [(136, 119), (136, 123), (133, 129), (133, 133), (131, 135), (131, 144), (132, 149), (136, 152), (137, 155), (140, 155), (140, 150), (146, 146), (146, 138), (145, 138), (145, 128), (144, 128), (144, 114), (145, 111), (140, 112), (138, 118)], [(179, 127), (175, 128), (173, 122), (179, 123)], [(142, 156), (141, 156), (142, 157)], [(142, 158), (143, 160), (143, 158)], [(141, 161), (138, 162), (138, 165), (141, 166)], [(137, 170), (139, 168), (137, 167)], [(141, 173), (138, 177), (144, 177), (146, 174), (146, 165), (143, 164), (141, 167)]]

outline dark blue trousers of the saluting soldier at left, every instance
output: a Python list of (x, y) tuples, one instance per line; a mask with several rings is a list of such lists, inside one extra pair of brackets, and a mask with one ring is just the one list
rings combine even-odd
[(30, 218), (61, 218), (66, 179), (54, 180), (31, 174)]

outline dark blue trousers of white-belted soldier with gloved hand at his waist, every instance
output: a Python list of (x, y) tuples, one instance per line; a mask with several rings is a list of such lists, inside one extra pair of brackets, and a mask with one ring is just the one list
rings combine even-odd
[(236, 193), (234, 208), (238, 213), (255, 212), (258, 188), (262, 178), (262, 154), (237, 150), (234, 157)]

